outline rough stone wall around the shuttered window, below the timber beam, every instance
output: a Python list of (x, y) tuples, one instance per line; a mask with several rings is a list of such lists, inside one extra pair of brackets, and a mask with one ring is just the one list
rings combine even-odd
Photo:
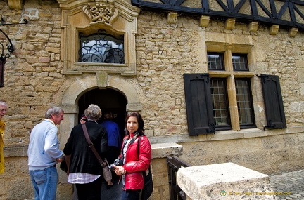
[[(304, 67), (303, 33), (291, 38), (284, 29), (272, 36), (263, 25), (258, 32), (251, 33), (246, 24), (236, 24), (235, 29), (227, 30), (224, 22), (219, 21), (211, 21), (205, 28), (198, 26), (198, 19), (184, 15), (177, 18), (177, 24), (167, 24), (166, 19), (165, 13), (141, 12), (139, 15), (137, 79), (146, 97), (144, 112), (148, 111), (146, 121), (154, 136), (187, 133), (182, 74), (208, 72), (203, 43), (209, 39), (231, 44), (241, 44), (244, 39), (250, 41), (248, 45), (253, 45), (249, 60), (251, 71), (256, 75), (279, 76), (287, 124), (303, 126), (304, 93), (300, 89)], [(260, 102), (260, 79), (253, 79), (256, 83), (253, 98)], [(264, 110), (256, 105), (255, 112)], [(261, 122), (264, 120), (261, 116), (255, 119), (259, 128), (265, 126), (265, 122)]]

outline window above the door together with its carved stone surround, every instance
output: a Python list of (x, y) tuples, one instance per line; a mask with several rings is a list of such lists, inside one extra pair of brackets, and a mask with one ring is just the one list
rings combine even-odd
[(124, 1), (65, 2), (60, 6), (65, 74), (137, 74), (135, 34), (139, 8)]

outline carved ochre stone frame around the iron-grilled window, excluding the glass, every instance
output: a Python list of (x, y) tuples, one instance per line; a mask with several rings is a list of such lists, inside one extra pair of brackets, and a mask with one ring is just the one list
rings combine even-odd
[[(65, 74), (137, 74), (135, 34), (140, 8), (129, 0), (57, 0), (62, 11), (61, 58)], [(104, 29), (112, 36), (123, 36), (124, 62), (82, 62), (80, 34), (89, 36)]]

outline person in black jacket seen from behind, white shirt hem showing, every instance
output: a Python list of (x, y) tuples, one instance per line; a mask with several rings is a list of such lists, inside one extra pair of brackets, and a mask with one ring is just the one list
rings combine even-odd
[[(91, 104), (84, 110), (84, 114), (87, 116), (85, 124), (89, 138), (101, 159), (105, 159), (108, 150), (108, 133), (104, 126), (97, 123), (101, 117), (101, 109)], [(102, 167), (87, 143), (81, 124), (72, 128), (63, 152), (69, 166), (68, 182), (76, 185), (78, 199), (101, 199)]]

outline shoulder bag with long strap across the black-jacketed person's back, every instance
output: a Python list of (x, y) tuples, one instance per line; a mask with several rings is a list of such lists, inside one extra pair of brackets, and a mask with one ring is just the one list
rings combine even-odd
[(99, 156), (99, 153), (96, 152), (94, 144), (91, 142), (91, 140), (89, 138), (89, 133), (87, 133), (87, 126), (85, 125), (85, 123), (82, 124), (82, 129), (84, 131), (84, 136), (87, 139), (89, 147), (91, 148), (91, 150), (93, 151), (93, 153), (95, 154), (96, 158), (99, 160), (99, 163), (101, 164), (101, 166), (103, 168), (103, 178), (106, 180), (106, 182), (108, 182), (109, 180), (112, 180), (112, 173), (111, 173), (110, 169), (108, 168), (108, 161), (106, 159), (103, 161), (103, 159), (101, 159), (101, 156)]

